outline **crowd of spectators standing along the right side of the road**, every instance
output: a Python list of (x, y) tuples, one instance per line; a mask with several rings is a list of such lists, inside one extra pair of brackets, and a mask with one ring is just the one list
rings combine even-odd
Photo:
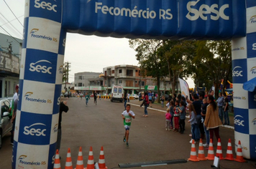
[[(165, 130), (184, 133), (186, 115), (191, 123), (192, 140), (195, 143), (206, 138), (204, 147), (208, 148), (210, 139), (219, 139), (219, 126), (229, 125), (229, 104), (227, 95), (219, 93), (218, 100), (214, 98), (214, 91), (206, 95), (205, 92), (194, 93), (192, 99), (182, 95), (170, 95), (165, 113)], [(163, 102), (162, 102), (163, 104)]]

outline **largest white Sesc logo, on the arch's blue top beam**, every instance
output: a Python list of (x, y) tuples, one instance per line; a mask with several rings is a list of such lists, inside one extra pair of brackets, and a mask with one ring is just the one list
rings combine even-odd
[(224, 14), (224, 10), (229, 8), (229, 4), (224, 4), (219, 7), (218, 4), (212, 4), (211, 6), (208, 6), (206, 4), (201, 4), (199, 9), (193, 9), (192, 6), (196, 6), (198, 1), (189, 1), (187, 4), (188, 14), (186, 15), (186, 18), (188, 18), (191, 21), (197, 20), (199, 17), (203, 20), (209, 19), (207, 15), (210, 14), (211, 20), (218, 20), (219, 17), (224, 20), (229, 20), (229, 16)]

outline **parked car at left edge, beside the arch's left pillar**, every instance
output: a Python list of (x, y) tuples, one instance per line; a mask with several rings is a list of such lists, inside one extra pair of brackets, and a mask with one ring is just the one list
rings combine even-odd
[(1, 144), (2, 144), (2, 137), (6, 135), (8, 132), (12, 131), (12, 122), (11, 122), (11, 117), (9, 117), (9, 107), (10, 107), (10, 102), (8, 99), (0, 99), (0, 105), (1, 105), (1, 110), (0, 110), (0, 149), (1, 149)]

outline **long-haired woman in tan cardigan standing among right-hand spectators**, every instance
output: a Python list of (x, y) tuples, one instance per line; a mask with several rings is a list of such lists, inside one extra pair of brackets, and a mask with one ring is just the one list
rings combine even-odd
[(207, 102), (209, 103), (209, 106), (206, 109), (206, 119), (204, 121), (204, 125), (210, 132), (210, 139), (214, 142), (214, 134), (216, 139), (219, 139), (219, 126), (222, 125), (222, 123), (219, 119), (217, 105), (216, 102), (214, 102), (214, 97), (209, 95), (209, 97), (207, 97)]

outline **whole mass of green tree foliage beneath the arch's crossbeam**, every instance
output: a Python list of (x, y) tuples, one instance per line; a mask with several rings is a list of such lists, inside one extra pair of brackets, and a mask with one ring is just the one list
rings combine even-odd
[(160, 79), (167, 76), (173, 92), (178, 77), (193, 77), (196, 86), (204, 84), (207, 89), (213, 84), (219, 89), (221, 79), (224, 84), (232, 81), (230, 41), (132, 39), (129, 46), (137, 52), (142, 72), (157, 79), (158, 89)]

